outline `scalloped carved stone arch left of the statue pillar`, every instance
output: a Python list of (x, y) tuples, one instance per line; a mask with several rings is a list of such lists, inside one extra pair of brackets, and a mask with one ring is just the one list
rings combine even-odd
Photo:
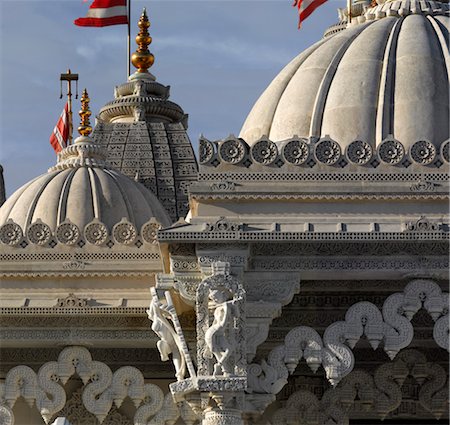
[[(86, 348), (74, 346), (62, 350), (58, 361), (45, 363), (37, 374), (28, 366), (11, 369), (5, 382), (0, 383), (0, 400), (5, 402), (0, 411), (13, 418), (12, 408), (23, 397), (30, 406), (36, 405), (45, 423), (49, 423), (64, 408), (63, 385), (75, 373), (84, 385), (83, 405), (100, 423), (113, 403), (119, 408), (126, 397), (136, 406), (135, 423), (139, 424), (147, 424), (163, 406), (162, 390), (154, 384), (145, 384), (138, 369), (124, 366), (112, 373), (106, 364), (92, 360)], [(12, 425), (13, 420), (6, 423)]]

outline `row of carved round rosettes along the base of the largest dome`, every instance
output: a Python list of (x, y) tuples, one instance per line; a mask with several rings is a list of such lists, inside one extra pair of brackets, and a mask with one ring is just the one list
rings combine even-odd
[(392, 135), (388, 135), (378, 148), (368, 141), (354, 140), (345, 149), (328, 135), (320, 139), (294, 136), (282, 141), (262, 136), (251, 145), (234, 135), (217, 141), (201, 137), (200, 170), (214, 172), (214, 169), (229, 170), (230, 166), (244, 170), (263, 167), (282, 170), (292, 166), (322, 170), (326, 168), (324, 166), (375, 169), (379, 166), (408, 168), (413, 165), (440, 168), (444, 162), (448, 163), (448, 142), (443, 146), (445, 143), (447, 148), (438, 152), (428, 140), (419, 140), (407, 149)]

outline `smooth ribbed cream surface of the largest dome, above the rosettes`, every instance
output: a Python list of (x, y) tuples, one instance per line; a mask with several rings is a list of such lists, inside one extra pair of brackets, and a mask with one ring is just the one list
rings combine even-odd
[(415, 11), (374, 12), (301, 53), (261, 95), (240, 137), (329, 135), (342, 148), (354, 140), (375, 148), (392, 135), (405, 148), (419, 140), (439, 148), (449, 137), (450, 22), (447, 12)]

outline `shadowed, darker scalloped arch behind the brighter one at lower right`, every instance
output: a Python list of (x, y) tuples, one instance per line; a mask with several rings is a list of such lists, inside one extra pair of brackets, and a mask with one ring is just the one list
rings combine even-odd
[(447, 411), (448, 385), (445, 370), (427, 362), (416, 350), (401, 352), (392, 363), (378, 367), (373, 375), (353, 370), (319, 400), (310, 391), (292, 394), (286, 406), (274, 412), (273, 425), (348, 425), (355, 402), (381, 420), (397, 409), (403, 398), (402, 385), (411, 376), (419, 385), (418, 402), (436, 419)]

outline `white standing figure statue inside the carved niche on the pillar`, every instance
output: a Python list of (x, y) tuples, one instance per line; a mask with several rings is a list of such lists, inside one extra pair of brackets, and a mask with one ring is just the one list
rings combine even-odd
[(205, 355), (209, 358), (214, 356), (217, 360), (214, 376), (230, 376), (234, 368), (229, 360), (236, 350), (234, 317), (239, 314), (236, 300), (233, 299), (231, 291), (224, 287), (210, 290), (209, 298), (216, 307), (213, 323), (205, 332)]

